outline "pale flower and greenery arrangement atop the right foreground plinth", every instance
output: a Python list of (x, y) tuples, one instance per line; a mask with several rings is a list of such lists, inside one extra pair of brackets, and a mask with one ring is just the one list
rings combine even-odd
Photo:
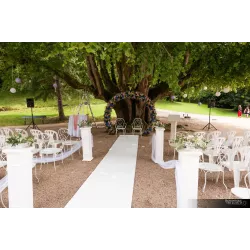
[(205, 138), (193, 135), (190, 133), (183, 133), (176, 136), (175, 140), (170, 142), (176, 149), (206, 149), (209, 141)]

